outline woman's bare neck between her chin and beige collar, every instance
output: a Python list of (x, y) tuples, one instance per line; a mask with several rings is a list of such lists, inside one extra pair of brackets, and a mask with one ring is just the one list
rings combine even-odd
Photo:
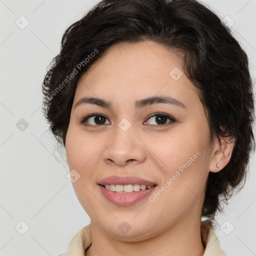
[(140, 240), (138, 236), (133, 236), (132, 241), (130, 237), (128, 241), (125, 241), (118, 239), (115, 235), (109, 236), (91, 221), (93, 242), (85, 255), (202, 256), (204, 246), (201, 241), (200, 221), (200, 219), (194, 221), (194, 218), (187, 216), (153, 237)]

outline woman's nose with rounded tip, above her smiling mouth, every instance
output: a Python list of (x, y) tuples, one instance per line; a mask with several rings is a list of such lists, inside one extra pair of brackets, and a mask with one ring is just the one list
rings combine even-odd
[(145, 160), (143, 145), (132, 126), (126, 131), (117, 126), (114, 136), (103, 149), (102, 157), (106, 163), (118, 166), (141, 163)]

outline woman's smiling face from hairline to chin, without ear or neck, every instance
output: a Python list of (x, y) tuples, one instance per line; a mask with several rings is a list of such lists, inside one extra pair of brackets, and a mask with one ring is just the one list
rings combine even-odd
[[(182, 73), (180, 59), (164, 46), (119, 43), (77, 83), (65, 145), (69, 169), (80, 175), (72, 184), (91, 221), (120, 239), (145, 239), (179, 222), (200, 221), (213, 153), (202, 103)], [(144, 100), (149, 97), (158, 100)], [(118, 193), (99, 185), (109, 176), (156, 185)], [(142, 181), (126, 182), (136, 183)]]

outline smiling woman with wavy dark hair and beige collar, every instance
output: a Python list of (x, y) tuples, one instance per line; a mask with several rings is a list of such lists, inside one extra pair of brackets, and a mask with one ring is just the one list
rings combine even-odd
[(67, 28), (42, 91), (91, 218), (61, 255), (226, 255), (212, 225), (244, 181), (254, 108), (246, 53), (214, 13), (103, 0)]

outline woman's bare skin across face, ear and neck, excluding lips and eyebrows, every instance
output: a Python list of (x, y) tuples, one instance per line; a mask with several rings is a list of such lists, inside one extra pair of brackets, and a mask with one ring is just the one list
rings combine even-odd
[[(84, 73), (78, 83), (66, 134), (69, 169), (80, 178), (73, 183), (76, 196), (91, 218), (94, 255), (203, 255), (200, 238), (201, 208), (209, 171), (220, 171), (229, 161), (233, 142), (210, 143), (207, 118), (198, 92), (186, 76), (174, 80), (169, 72), (181, 59), (153, 41), (118, 43)], [(157, 103), (137, 109), (136, 100), (170, 96), (186, 107)], [(75, 103), (84, 96), (112, 101), (112, 109)], [(175, 118), (163, 124), (156, 115)], [(102, 114), (105, 124), (89, 114)], [(123, 131), (118, 123), (131, 126)], [(156, 127), (156, 125), (162, 125)], [(97, 182), (111, 175), (133, 175), (158, 183), (155, 191), (196, 152), (189, 167), (153, 202), (148, 197), (130, 206), (108, 201)], [(219, 168), (216, 167), (219, 164)], [(122, 233), (118, 226), (130, 226)]]

